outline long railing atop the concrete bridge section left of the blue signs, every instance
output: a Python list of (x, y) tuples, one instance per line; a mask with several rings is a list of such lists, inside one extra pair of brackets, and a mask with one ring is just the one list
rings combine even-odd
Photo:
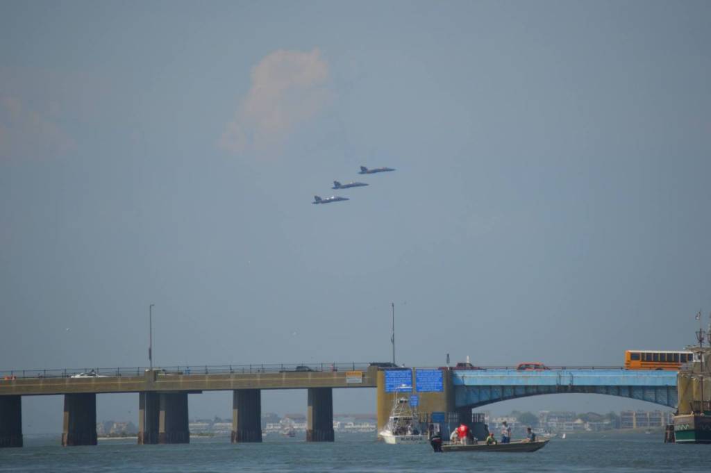
[[(159, 375), (252, 374), (252, 373), (321, 373), (365, 371), (370, 363), (259, 363), (247, 365), (156, 366)], [(151, 368), (55, 368), (40, 370), (0, 371), (0, 382), (22, 378), (103, 378), (108, 376), (144, 376)]]

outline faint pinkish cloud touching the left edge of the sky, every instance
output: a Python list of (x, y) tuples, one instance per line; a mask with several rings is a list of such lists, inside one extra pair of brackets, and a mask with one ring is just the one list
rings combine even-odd
[(0, 95), (0, 159), (44, 159), (65, 154), (74, 140), (17, 97)]

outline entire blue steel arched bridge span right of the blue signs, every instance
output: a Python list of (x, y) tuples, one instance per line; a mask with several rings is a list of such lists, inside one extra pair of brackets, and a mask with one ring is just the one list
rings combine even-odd
[(542, 371), (488, 368), (453, 370), (451, 381), (456, 408), (478, 408), (503, 400), (560, 393), (615, 395), (676, 408), (677, 374), (677, 371), (624, 368)]

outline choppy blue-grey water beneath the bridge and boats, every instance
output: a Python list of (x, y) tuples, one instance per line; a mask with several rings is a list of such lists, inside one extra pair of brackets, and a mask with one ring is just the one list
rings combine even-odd
[(26, 447), (0, 450), (0, 472), (709, 472), (711, 445), (664, 445), (663, 434), (586, 434), (553, 439), (533, 453), (435, 454), (429, 445), (385, 445), (373, 434), (341, 434), (333, 443), (267, 437), (231, 445), (229, 437), (193, 437), (189, 445), (58, 445), (26, 436)]

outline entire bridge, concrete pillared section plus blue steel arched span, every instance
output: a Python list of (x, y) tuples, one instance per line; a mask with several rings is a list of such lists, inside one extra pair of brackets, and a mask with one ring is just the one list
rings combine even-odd
[(22, 445), (22, 396), (64, 395), (62, 445), (96, 445), (96, 395), (137, 393), (139, 444), (189, 442), (188, 394), (232, 390), (232, 442), (261, 442), (261, 390), (306, 389), (309, 442), (333, 441), (333, 389), (377, 388), (378, 430), (395, 395), (417, 399), (432, 422), (471, 419), (471, 409), (554, 393), (597, 393), (676, 407), (676, 371), (557, 367), (518, 371), (397, 368), (390, 363), (172, 366), (0, 372), (0, 447)]

